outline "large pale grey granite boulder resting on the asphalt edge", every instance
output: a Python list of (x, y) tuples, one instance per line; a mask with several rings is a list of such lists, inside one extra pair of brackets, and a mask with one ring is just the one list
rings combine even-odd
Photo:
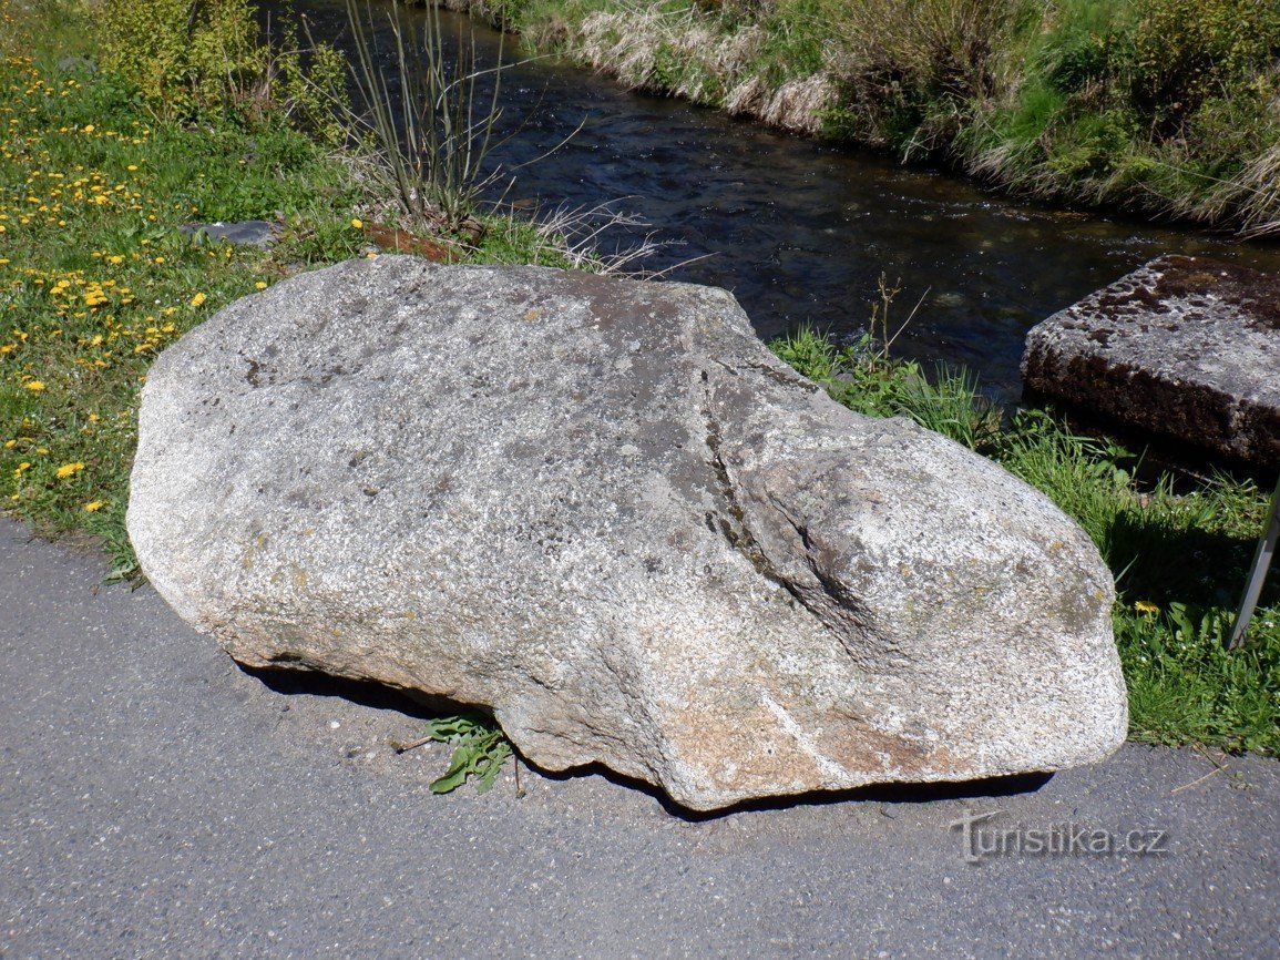
[(1112, 581), (1039, 493), (833, 403), (724, 291), (351, 261), (143, 390), (129, 534), (243, 664), (492, 708), (712, 809), (1125, 736)]

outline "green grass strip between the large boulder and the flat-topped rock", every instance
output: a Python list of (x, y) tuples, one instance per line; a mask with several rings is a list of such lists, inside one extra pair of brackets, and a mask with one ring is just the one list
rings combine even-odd
[(1139, 460), (1078, 436), (1044, 412), (1001, 422), (975, 384), (890, 360), (870, 340), (836, 347), (812, 330), (773, 351), (872, 416), (905, 416), (968, 445), (1046, 493), (1088, 532), (1116, 575), (1116, 644), (1130, 736), (1280, 754), (1280, 588), (1263, 595), (1249, 643), (1225, 649), (1267, 498), (1247, 480), (1139, 480)]

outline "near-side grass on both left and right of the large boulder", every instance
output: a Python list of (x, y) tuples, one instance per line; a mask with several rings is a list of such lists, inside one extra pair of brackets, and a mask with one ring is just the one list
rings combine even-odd
[[(266, 111), (148, 109), (83, 58), (100, 47), (72, 8), (10, 6), (0, 61), (0, 507), (40, 532), (86, 532), (136, 573), (124, 532), (138, 390), (165, 344), (232, 300), (297, 270), (370, 251), (387, 200), (361, 165)], [(183, 224), (264, 219), (269, 248), (207, 244)], [(529, 224), (489, 221), (472, 261), (562, 252)], [(864, 412), (914, 416), (1047, 492), (1120, 577), (1116, 635), (1133, 735), (1280, 753), (1280, 602), (1252, 643), (1221, 649), (1265, 499), (1247, 481), (1139, 481), (1134, 458), (1073, 438), (1042, 413), (1004, 430), (972, 388), (929, 387), (918, 367), (781, 344), (803, 372)]]

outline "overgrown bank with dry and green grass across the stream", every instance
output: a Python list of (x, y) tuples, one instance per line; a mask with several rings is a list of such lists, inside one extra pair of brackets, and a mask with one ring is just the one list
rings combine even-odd
[(1274, 0), (447, 0), (631, 87), (1024, 196), (1280, 233)]

